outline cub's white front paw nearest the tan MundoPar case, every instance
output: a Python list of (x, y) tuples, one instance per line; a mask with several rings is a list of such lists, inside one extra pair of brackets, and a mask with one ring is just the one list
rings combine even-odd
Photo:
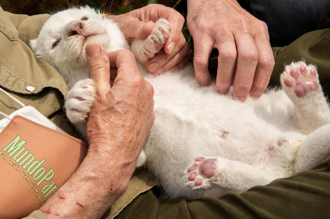
[(78, 81), (69, 91), (65, 102), (66, 116), (73, 124), (84, 122), (95, 99), (95, 83), (92, 79)]

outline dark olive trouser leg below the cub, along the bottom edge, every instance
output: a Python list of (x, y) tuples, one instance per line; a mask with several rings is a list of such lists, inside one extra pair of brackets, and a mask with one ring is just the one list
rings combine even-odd
[(121, 218), (329, 218), (330, 160), (313, 170), (256, 186), (240, 195), (220, 199), (158, 197), (154, 191), (135, 198), (116, 217)]

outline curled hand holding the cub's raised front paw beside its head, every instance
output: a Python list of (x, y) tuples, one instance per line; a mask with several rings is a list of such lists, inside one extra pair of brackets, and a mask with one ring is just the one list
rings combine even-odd
[(150, 4), (127, 14), (112, 16), (111, 18), (118, 22), (126, 37), (140, 40), (147, 38), (155, 26), (154, 22), (156, 20), (159, 18), (167, 19), (171, 24), (171, 31), (164, 45), (164, 50), (149, 59), (146, 68), (150, 72), (154, 72), (161, 67), (161, 73), (167, 70), (173, 72), (188, 64), (192, 51), (181, 32), (184, 18), (176, 10), (163, 5)]

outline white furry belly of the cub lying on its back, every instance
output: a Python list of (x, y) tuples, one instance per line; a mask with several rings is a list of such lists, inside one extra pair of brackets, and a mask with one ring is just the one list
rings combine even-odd
[(169, 196), (205, 195), (182, 182), (183, 171), (197, 157), (219, 156), (264, 168), (268, 157), (276, 155), (269, 148), (276, 147), (281, 131), (258, 117), (254, 104), (219, 95), (212, 87), (201, 88), (187, 75), (147, 80), (155, 91), (156, 118), (144, 151), (148, 169)]

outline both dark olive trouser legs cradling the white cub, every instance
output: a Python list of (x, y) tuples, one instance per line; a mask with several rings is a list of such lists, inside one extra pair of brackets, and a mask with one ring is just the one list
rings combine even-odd
[[(289, 46), (273, 48), (273, 51), (276, 64), (271, 86), (280, 85), (284, 63), (304, 58), (308, 64), (317, 65), (321, 85), (329, 93), (330, 29), (307, 33)], [(322, 219), (330, 218), (329, 206), (330, 159), (312, 170), (275, 180), (267, 186), (253, 187), (240, 195), (228, 192), (220, 199), (170, 199), (159, 197), (156, 190), (149, 190), (134, 199), (116, 218)]]

